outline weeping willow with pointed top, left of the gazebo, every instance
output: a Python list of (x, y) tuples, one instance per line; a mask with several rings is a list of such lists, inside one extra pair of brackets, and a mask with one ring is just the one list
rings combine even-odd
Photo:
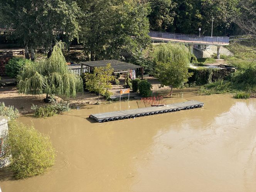
[(57, 94), (74, 98), (83, 91), (81, 77), (72, 74), (66, 65), (62, 51), (64, 42), (58, 42), (49, 59), (27, 63), (17, 76), (19, 93), (24, 94)]

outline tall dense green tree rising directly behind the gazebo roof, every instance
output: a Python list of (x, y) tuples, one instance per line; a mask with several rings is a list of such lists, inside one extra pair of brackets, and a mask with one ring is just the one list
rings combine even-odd
[(77, 0), (83, 13), (80, 42), (91, 61), (118, 59), (121, 52), (145, 48), (150, 11), (137, 0)]

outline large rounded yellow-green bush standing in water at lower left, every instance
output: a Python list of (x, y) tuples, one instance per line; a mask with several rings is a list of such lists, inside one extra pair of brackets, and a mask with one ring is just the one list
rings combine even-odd
[(7, 145), (12, 153), (10, 167), (17, 179), (39, 175), (54, 165), (54, 148), (48, 136), (15, 120), (8, 126)]

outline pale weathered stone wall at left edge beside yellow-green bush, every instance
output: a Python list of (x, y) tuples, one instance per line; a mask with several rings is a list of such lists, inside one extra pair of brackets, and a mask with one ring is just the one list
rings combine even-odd
[(0, 168), (5, 167), (9, 165), (10, 163), (10, 157), (5, 155), (4, 149), (4, 138), (6, 138), (8, 134), (8, 120), (0, 116)]

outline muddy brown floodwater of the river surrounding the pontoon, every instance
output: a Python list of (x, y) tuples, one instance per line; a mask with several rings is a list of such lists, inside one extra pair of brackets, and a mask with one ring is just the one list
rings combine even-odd
[[(95, 123), (91, 113), (120, 104), (88, 105), (46, 119), (21, 117), (48, 134), (56, 163), (44, 175), (13, 180), (0, 170), (2, 192), (256, 191), (256, 99), (197, 96), (204, 108)], [(141, 107), (122, 102), (121, 109)]]

